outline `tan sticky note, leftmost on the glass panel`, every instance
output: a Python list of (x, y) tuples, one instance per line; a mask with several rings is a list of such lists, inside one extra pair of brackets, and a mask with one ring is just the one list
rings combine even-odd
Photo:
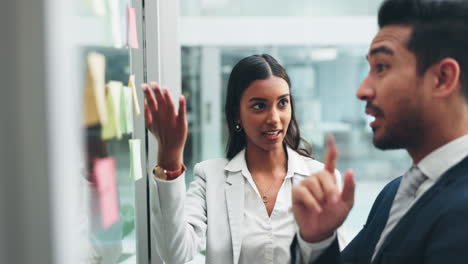
[(99, 53), (89, 53), (86, 57), (86, 80), (84, 91), (85, 126), (105, 124), (107, 122), (105, 74), (105, 57)]

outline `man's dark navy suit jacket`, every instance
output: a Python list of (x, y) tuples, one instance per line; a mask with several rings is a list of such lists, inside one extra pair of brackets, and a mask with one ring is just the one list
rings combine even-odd
[[(359, 234), (340, 253), (335, 239), (314, 261), (300, 255), (297, 237), (291, 263), (371, 263), (401, 177), (385, 186)], [(373, 264), (468, 263), (468, 157), (441, 176), (387, 236)]]

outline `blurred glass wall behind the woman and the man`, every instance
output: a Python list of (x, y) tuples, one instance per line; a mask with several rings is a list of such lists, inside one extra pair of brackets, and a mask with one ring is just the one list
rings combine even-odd
[[(182, 1), (182, 25), (186, 15), (208, 19), (219, 16), (216, 19), (221, 20), (227, 16), (239, 16), (236, 19), (242, 21), (245, 16), (256, 16), (260, 20), (262, 16), (269, 16), (267, 19), (274, 20), (275, 16), (307, 15), (309, 18), (305, 19), (314, 19), (319, 13), (351, 22), (362, 16), (371, 16), (369, 21), (376, 24), (374, 16), (380, 1), (353, 1), (351, 4), (351, 1), (336, 0), (320, 3), (320, 6), (313, 1), (278, 2), (276, 5), (271, 1), (252, 3), (226, 0), (216, 3)], [(252, 23), (252, 28), (256, 28), (255, 21)], [(332, 26), (337, 27), (320, 25), (322, 30)], [(201, 26), (199, 30), (203, 32), (206, 29)], [(297, 32), (297, 35), (309, 33), (303, 28), (290, 30)], [(360, 28), (354, 30), (359, 33)], [(241, 33), (233, 31), (230, 34), (241, 36), (252, 33), (248, 28), (238, 31)], [(216, 33), (210, 32), (211, 35)], [(222, 35), (222, 32), (219, 33)], [(262, 31), (257, 33), (263, 34)], [(375, 34), (376, 28), (369, 33)], [(204, 44), (203, 39), (194, 40), (194, 37), (187, 40), (186, 44), (182, 43), (182, 91), (188, 98), (189, 112), (185, 161), (188, 168), (193, 168), (195, 163), (202, 160), (225, 156), (227, 131), (224, 97), (230, 71), (245, 56), (268, 53), (285, 66), (291, 77), (292, 94), (297, 105), (296, 115), (303, 137), (312, 143), (313, 156), (323, 161), (325, 137), (331, 133), (339, 147), (338, 169), (342, 173), (347, 168), (355, 171), (356, 202), (343, 229), (351, 240), (364, 224), (372, 202), (385, 183), (401, 175), (410, 166), (406, 152), (384, 152), (372, 145), (370, 120), (364, 113), (365, 103), (355, 96), (360, 82), (369, 71), (365, 56), (371, 39), (356, 40), (357, 35), (354, 37), (352, 34), (336, 32), (341, 34), (339, 41), (333, 39), (327, 42), (325, 39), (320, 44), (307, 44), (299, 36), (297, 44), (285, 45), (278, 34), (277, 43), (268, 45), (254, 45), (248, 39), (243, 44), (239, 44), (238, 40), (226, 39), (224, 43), (219, 40), (219, 45), (212, 45)], [(310, 34), (313, 34), (312, 30)], [(320, 36), (315, 35), (315, 38)], [(198, 45), (193, 44), (197, 42)], [(190, 178), (187, 180), (190, 181)]]

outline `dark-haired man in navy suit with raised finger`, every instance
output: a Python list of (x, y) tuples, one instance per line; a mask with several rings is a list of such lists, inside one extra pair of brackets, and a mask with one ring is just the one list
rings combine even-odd
[(375, 117), (374, 145), (404, 148), (414, 165), (382, 190), (339, 252), (354, 180), (347, 171), (338, 190), (329, 139), (325, 170), (293, 189), (292, 262), (468, 263), (468, 1), (387, 0), (378, 20), (357, 97)]

